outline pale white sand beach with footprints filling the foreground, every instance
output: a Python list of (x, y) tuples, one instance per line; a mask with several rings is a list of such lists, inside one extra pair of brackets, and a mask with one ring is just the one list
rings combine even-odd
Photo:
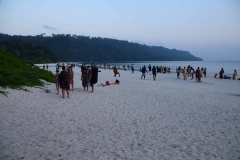
[[(55, 67), (50, 67), (54, 71)], [(94, 93), (80, 68), (70, 98), (55, 84), (2, 89), (0, 159), (240, 159), (240, 81), (100, 69)], [(119, 85), (102, 87), (106, 81)], [(50, 90), (46, 93), (45, 90)]]

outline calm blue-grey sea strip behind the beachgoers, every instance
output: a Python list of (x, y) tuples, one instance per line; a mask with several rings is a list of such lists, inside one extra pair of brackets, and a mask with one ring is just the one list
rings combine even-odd
[[(80, 66), (82, 63), (86, 63), (87, 65), (90, 64), (89, 62), (73, 62), (76, 65)], [(144, 65), (146, 67), (149, 64), (153, 66), (162, 66), (162, 67), (170, 67), (171, 72), (176, 72), (177, 67), (188, 67), (189, 65), (192, 66), (194, 69), (198, 67), (207, 68), (207, 75), (214, 76), (215, 74), (219, 74), (220, 70), (224, 69), (224, 74), (227, 76), (232, 77), (234, 70), (238, 72), (238, 76), (240, 77), (240, 61), (112, 61), (112, 62), (91, 62), (97, 65), (99, 68), (103, 68), (104, 64), (110, 65), (117, 65), (120, 69), (123, 69), (123, 66), (126, 67), (132, 64), (134, 65), (134, 69), (140, 70)]]

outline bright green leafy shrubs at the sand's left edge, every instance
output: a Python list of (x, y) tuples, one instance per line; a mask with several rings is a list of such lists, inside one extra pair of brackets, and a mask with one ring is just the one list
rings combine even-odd
[(50, 71), (31, 67), (11, 53), (0, 50), (0, 86), (20, 88), (21, 86), (43, 86), (43, 79), (54, 83), (55, 77)]

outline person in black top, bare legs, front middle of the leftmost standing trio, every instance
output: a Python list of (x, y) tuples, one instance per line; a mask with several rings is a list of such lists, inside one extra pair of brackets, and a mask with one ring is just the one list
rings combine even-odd
[(65, 70), (65, 66), (62, 66), (62, 71), (59, 74), (59, 82), (60, 82), (60, 88), (62, 88), (62, 96), (65, 97), (65, 90), (67, 92), (67, 96), (69, 98), (69, 73)]

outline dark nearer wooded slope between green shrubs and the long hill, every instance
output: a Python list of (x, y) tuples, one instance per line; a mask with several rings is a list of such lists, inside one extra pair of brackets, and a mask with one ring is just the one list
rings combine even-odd
[(0, 40), (0, 49), (12, 53), (26, 63), (53, 63), (59, 60), (52, 50), (27, 42)]

